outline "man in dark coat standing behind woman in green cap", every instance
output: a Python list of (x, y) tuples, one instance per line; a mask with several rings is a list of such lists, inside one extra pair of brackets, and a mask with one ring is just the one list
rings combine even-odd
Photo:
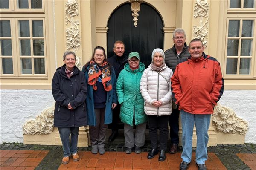
[[(108, 58), (108, 62), (114, 67), (117, 79), (121, 70), (124, 69), (125, 64), (128, 63), (128, 58), (124, 55), (125, 44), (122, 41), (116, 41), (113, 50), (114, 55)], [(118, 136), (118, 122), (120, 122), (119, 114), (120, 104), (117, 104), (117, 107), (113, 109), (113, 121), (111, 124), (112, 134), (108, 138), (108, 141), (110, 142), (114, 141)]]

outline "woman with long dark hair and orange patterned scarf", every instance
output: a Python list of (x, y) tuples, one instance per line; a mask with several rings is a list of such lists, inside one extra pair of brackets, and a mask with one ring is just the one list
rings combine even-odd
[(91, 60), (82, 71), (88, 88), (86, 104), (91, 152), (104, 154), (107, 124), (112, 123), (112, 109), (117, 105), (115, 71), (108, 63), (101, 46), (95, 47)]

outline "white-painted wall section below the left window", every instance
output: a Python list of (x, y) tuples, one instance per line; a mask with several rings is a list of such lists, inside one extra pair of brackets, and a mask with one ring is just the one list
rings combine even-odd
[(52, 90), (1, 89), (1, 138), (3, 142), (23, 142), (22, 125), (54, 104)]

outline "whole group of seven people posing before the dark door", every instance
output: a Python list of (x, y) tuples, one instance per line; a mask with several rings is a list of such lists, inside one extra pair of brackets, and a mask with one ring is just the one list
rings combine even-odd
[(168, 124), (169, 153), (177, 152), (180, 116), (183, 147), (180, 170), (187, 170), (191, 162), (194, 124), (195, 161), (198, 170), (206, 170), (210, 118), (224, 87), (220, 64), (204, 53), (200, 39), (193, 39), (187, 46), (183, 29), (175, 29), (173, 42), (174, 46), (166, 52), (154, 49), (152, 62), (146, 69), (138, 52), (124, 55), (122, 41), (116, 41), (114, 56), (108, 59), (105, 49), (96, 46), (82, 71), (75, 66), (75, 53), (64, 53), (64, 65), (52, 79), (56, 101), (54, 126), (58, 127), (63, 145), (63, 164), (69, 162), (70, 156), (73, 161), (79, 160), (80, 126), (89, 125), (91, 152), (104, 154), (108, 124), (112, 128), (108, 140), (113, 141), (118, 135), (119, 118), (124, 123), (125, 153), (131, 153), (133, 148), (135, 153), (142, 152), (148, 122), (152, 149), (147, 158), (154, 158), (160, 151), (158, 160), (164, 161)]

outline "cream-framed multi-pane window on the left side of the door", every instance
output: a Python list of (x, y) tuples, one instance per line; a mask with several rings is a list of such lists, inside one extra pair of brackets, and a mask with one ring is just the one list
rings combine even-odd
[[(28, 10), (29, 14), (31, 14), (33, 8), (43, 8), (42, 0), (1, 0), (0, 2), (1, 8), (17, 6)], [(13, 14), (11, 12), (8, 18), (1, 16), (1, 77), (47, 76), (45, 14), (38, 14), (37, 11), (35, 11), (35, 14), (39, 17), (20, 17), (22, 14), (16, 14), (15, 12)]]

